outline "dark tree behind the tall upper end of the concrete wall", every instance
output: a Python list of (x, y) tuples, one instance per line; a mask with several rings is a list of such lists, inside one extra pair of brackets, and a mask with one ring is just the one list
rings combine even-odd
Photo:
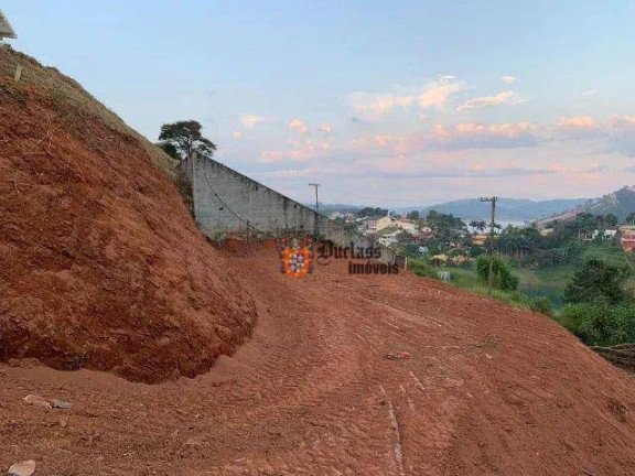
[[(216, 144), (201, 133), (203, 127), (195, 120), (177, 121), (161, 126), (159, 147), (172, 151), (175, 156), (185, 159), (194, 151), (206, 158), (212, 158)], [(170, 152), (168, 152), (170, 153)]]

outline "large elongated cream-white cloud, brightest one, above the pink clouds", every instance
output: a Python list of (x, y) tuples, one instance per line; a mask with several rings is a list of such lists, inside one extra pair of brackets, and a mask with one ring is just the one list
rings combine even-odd
[(465, 89), (465, 83), (455, 82), (454, 76), (441, 76), (438, 80), (413, 89), (396, 87), (388, 93), (353, 93), (348, 96), (348, 105), (358, 116), (378, 120), (397, 108), (442, 109), (454, 94)]

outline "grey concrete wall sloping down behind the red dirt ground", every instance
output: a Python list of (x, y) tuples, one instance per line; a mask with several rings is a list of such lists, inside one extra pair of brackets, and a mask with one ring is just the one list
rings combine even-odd
[(219, 162), (193, 154), (182, 167), (192, 183), (196, 223), (209, 237), (217, 234), (272, 238), (319, 236), (338, 246), (374, 245), (381, 249), (380, 261), (394, 261), (392, 250)]

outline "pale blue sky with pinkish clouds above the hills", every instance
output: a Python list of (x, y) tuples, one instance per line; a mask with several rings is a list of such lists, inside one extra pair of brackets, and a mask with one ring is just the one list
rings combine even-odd
[[(345, 3), (345, 4), (343, 4)], [(311, 202), (596, 197), (635, 183), (635, 1), (4, 0), (14, 48), (155, 141)]]

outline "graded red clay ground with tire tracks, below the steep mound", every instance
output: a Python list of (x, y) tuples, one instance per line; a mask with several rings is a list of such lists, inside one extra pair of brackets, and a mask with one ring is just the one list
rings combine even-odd
[[(635, 383), (548, 317), (408, 273), (349, 275), (343, 261), (293, 279), (273, 245), (228, 249), (257, 302), (247, 344), (155, 386), (0, 366), (0, 468), (635, 474)], [(28, 405), (29, 393), (74, 407)]]

